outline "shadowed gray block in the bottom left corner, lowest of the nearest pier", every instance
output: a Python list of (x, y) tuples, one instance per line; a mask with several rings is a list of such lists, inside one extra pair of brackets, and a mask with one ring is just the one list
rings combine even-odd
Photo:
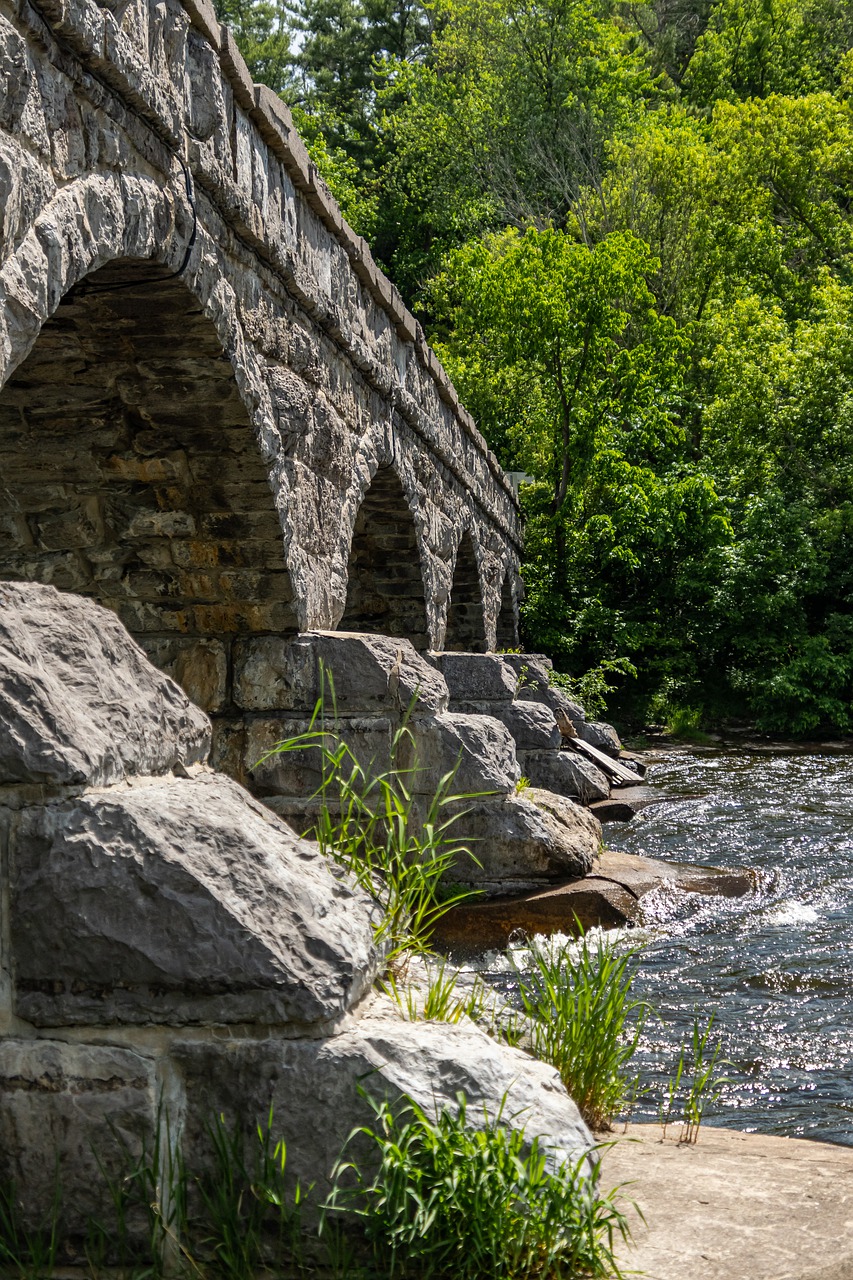
[[(154, 1148), (154, 1059), (109, 1044), (4, 1039), (0, 1102), (0, 1179), (19, 1189), (23, 1225), (31, 1231), (45, 1226), (59, 1178), (59, 1258), (81, 1257), (87, 1221), (96, 1217), (106, 1230), (104, 1261), (120, 1261), (104, 1172), (120, 1181), (143, 1149)], [(138, 1206), (126, 1225), (132, 1243), (147, 1243)]]

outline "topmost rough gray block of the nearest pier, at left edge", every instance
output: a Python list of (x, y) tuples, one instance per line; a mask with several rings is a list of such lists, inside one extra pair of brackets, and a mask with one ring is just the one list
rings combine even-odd
[(0, 783), (109, 783), (206, 759), (207, 717), (115, 614), (0, 584)]

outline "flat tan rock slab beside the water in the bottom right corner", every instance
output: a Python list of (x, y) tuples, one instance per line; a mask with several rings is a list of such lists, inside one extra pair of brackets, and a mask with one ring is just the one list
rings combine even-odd
[[(646, 1280), (853, 1280), (853, 1148), (703, 1125), (629, 1125), (603, 1156), (625, 1187), (634, 1240), (621, 1265)], [(630, 1140), (629, 1140), (630, 1139)]]

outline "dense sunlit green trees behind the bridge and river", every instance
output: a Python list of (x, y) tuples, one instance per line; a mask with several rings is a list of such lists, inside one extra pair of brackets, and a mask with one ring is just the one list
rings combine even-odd
[(853, 728), (849, 0), (219, 3), (532, 477), (525, 644)]

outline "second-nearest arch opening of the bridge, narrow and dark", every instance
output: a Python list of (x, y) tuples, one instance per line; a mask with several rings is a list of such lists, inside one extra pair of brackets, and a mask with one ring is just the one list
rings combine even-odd
[(429, 648), (415, 520), (397, 472), (379, 467), (356, 516), (342, 631), (405, 636)]

